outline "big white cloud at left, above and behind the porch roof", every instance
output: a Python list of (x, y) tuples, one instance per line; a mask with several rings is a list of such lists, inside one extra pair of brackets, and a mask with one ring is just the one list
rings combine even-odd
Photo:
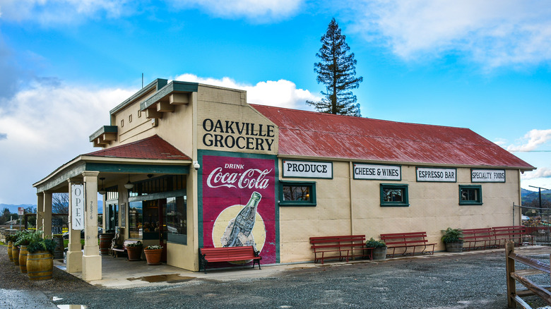
[(88, 137), (109, 124), (109, 109), (134, 93), (68, 85), (35, 85), (0, 104), (0, 203), (36, 200), (32, 183), (78, 154)]

